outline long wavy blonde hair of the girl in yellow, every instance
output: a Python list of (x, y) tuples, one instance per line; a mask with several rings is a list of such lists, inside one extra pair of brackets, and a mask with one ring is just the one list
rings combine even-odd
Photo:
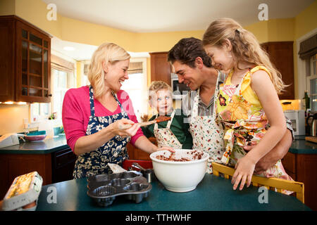
[(282, 82), (282, 75), (271, 63), (268, 54), (263, 51), (254, 34), (245, 30), (235, 20), (220, 18), (213, 21), (204, 33), (202, 44), (203, 46), (222, 47), (226, 39), (231, 42), (234, 63), (237, 68), (239, 68), (240, 62), (266, 67), (271, 73), (270, 77), (275, 90), (278, 93), (282, 91), (285, 87)]

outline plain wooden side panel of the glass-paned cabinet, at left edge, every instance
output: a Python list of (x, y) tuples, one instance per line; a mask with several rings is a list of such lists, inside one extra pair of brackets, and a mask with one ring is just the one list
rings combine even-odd
[(14, 32), (12, 19), (0, 21), (0, 102), (14, 101)]

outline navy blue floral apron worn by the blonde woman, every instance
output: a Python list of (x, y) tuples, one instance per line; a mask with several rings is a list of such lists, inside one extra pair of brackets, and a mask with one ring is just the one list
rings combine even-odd
[[(113, 97), (120, 105), (121, 113), (105, 117), (96, 117), (94, 115), (94, 94), (92, 86), (89, 86), (90, 117), (86, 135), (97, 133), (116, 120), (121, 120), (123, 118), (129, 119), (128, 114), (123, 110), (123, 107), (115, 94), (113, 94)], [(73, 172), (74, 179), (96, 174), (108, 174), (111, 172), (108, 163), (115, 163), (121, 166), (122, 162), (125, 159), (128, 159), (126, 145), (129, 143), (130, 139), (130, 136), (122, 137), (117, 135), (96, 150), (78, 155)]]

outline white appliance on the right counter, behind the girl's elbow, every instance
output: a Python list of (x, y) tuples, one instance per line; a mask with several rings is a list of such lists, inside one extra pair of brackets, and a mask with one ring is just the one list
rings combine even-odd
[(305, 111), (304, 110), (285, 110), (284, 115), (292, 122), (294, 135), (305, 135)]

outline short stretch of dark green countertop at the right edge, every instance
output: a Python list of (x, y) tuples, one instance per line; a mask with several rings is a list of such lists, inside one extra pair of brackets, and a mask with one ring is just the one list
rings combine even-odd
[(305, 141), (305, 136), (295, 136), (295, 140), (288, 151), (294, 154), (317, 154), (317, 144)]

